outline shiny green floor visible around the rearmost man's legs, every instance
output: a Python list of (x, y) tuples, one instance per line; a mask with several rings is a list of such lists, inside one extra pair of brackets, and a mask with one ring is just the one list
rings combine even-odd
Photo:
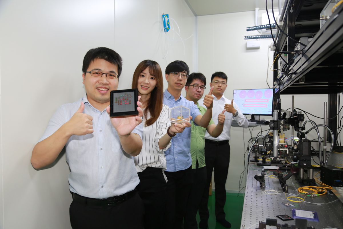
[[(210, 211), (210, 218), (208, 221), (209, 229), (225, 229), (220, 223), (217, 223), (215, 220), (214, 215), (214, 205), (215, 205), (215, 192), (212, 192), (212, 196), (209, 196), (209, 211)], [(242, 219), (242, 211), (243, 211), (243, 203), (244, 203), (244, 194), (239, 194), (237, 197), (237, 193), (226, 193), (226, 203), (224, 207), (224, 211), (226, 213), (225, 219), (229, 221), (232, 225), (231, 229), (240, 229), (240, 221)], [(197, 221), (199, 225), (200, 217), (197, 214)]]

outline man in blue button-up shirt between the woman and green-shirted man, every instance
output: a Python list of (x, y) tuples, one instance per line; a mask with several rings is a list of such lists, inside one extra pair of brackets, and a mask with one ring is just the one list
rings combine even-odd
[[(212, 118), (213, 96), (205, 95), (204, 105), (207, 110), (201, 115), (197, 105), (181, 95), (189, 74), (189, 68), (184, 61), (176, 60), (166, 67), (168, 88), (164, 91), (163, 104), (170, 108), (185, 106), (190, 109), (192, 121), (202, 127), (207, 127)], [(182, 133), (171, 139), (171, 146), (165, 151), (167, 160), (167, 209), (163, 228), (182, 228), (186, 212), (186, 203), (192, 183), (192, 158), (190, 154), (191, 128), (186, 127)]]

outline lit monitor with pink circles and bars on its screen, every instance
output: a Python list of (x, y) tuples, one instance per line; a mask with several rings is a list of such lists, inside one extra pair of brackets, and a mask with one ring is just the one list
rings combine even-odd
[(234, 102), (245, 115), (272, 115), (274, 89), (234, 90)]

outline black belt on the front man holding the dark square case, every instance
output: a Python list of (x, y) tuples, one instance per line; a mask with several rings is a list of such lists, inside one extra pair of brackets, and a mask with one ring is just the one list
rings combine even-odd
[(123, 203), (133, 197), (137, 193), (137, 190), (132, 190), (120, 196), (113, 196), (105, 199), (95, 199), (80, 196), (79, 194), (73, 193), (73, 200), (81, 204), (92, 205), (92, 206), (115, 206)]

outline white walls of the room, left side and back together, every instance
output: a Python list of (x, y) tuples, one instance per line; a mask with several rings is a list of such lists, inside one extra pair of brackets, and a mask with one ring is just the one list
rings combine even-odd
[[(162, 13), (175, 19), (181, 38), (173, 20), (175, 31), (167, 37), (161, 32)], [(208, 81), (213, 72), (226, 72), (225, 96), (231, 98), (233, 89), (267, 87), (267, 48), (272, 40), (261, 39), (260, 49), (246, 50), (244, 36), (256, 33), (246, 32), (251, 25), (254, 12), (196, 19), (184, 0), (0, 1), (0, 229), (70, 228), (64, 154), (40, 171), (32, 168), (30, 158), (58, 106), (83, 96), (81, 67), (88, 49), (106, 46), (123, 57), (119, 89), (130, 88), (141, 60), (156, 60), (164, 71), (169, 62), (181, 59)], [(271, 51), (269, 59), (272, 62)], [(282, 96), (283, 108), (290, 107), (290, 98)], [(326, 95), (299, 95), (295, 104), (322, 116), (326, 100)], [(226, 185), (231, 191), (238, 190), (243, 170), (243, 133), (247, 142), (249, 130), (232, 128)]]

